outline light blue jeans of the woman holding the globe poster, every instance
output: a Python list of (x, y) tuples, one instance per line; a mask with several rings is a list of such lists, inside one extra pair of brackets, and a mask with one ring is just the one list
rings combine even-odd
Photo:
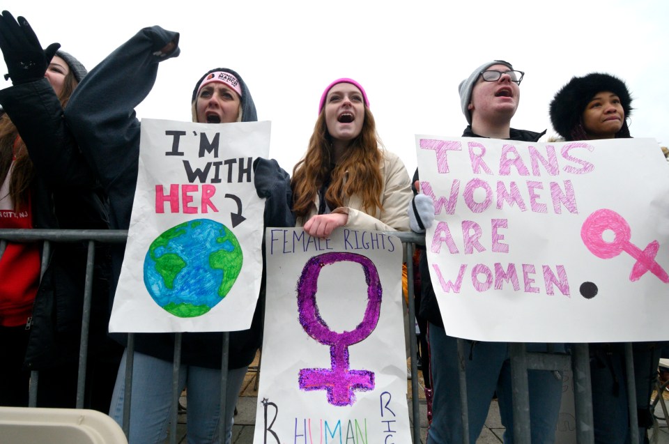
[[(118, 368), (109, 416), (123, 424), (125, 395), (125, 358)], [(172, 362), (142, 353), (134, 353), (132, 399), (130, 400), (130, 444), (162, 444), (167, 439), (167, 426), (172, 405)], [(228, 371), (226, 390), (225, 443), (232, 438), (235, 406), (248, 367)], [(179, 391), (187, 387), (188, 444), (220, 443), (220, 369), (182, 365), (179, 370)]]

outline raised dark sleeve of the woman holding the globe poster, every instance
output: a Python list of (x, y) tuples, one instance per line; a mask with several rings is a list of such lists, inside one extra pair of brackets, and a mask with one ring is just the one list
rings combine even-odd
[[(112, 228), (128, 229), (137, 185), (139, 120), (134, 108), (153, 88), (158, 63), (178, 56), (179, 34), (144, 28), (93, 68), (65, 112), (75, 139), (109, 195)], [(175, 47), (169, 54), (161, 49)]]

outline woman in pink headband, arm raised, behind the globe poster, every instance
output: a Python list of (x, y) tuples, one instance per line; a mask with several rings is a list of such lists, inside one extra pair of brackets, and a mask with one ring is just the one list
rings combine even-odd
[[(90, 72), (66, 112), (84, 155), (109, 194), (114, 229), (128, 229), (137, 185), (140, 123), (134, 116), (134, 107), (151, 91), (158, 63), (178, 56), (178, 39), (178, 33), (160, 26), (142, 29)], [(195, 82), (189, 107), (193, 121), (199, 123), (257, 120), (247, 84), (228, 68), (204, 73)], [(275, 160), (258, 159), (254, 162), (254, 182), (258, 195), (266, 198), (266, 226), (292, 227), (286, 171)], [(118, 247), (113, 257), (114, 289), (123, 250)], [(187, 386), (189, 443), (230, 443), (240, 387), (261, 344), (263, 301), (264, 273), (251, 328), (230, 333), (224, 437), (219, 436), (223, 335), (183, 333), (178, 385), (180, 389)], [(118, 372), (110, 410), (119, 424), (123, 419), (126, 357), (127, 353)], [(171, 409), (173, 358), (174, 334), (135, 335), (130, 444), (164, 443)]]

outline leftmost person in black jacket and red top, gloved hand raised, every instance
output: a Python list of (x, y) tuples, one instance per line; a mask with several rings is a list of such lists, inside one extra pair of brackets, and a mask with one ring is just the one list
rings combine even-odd
[[(0, 91), (0, 228), (107, 229), (106, 198), (63, 120), (86, 68), (54, 43), (42, 49), (24, 17), (0, 16), (13, 86)], [(0, 405), (75, 407), (86, 243), (7, 244), (0, 259)], [(43, 259), (47, 263), (43, 263)], [(40, 268), (46, 266), (40, 281)], [(95, 251), (84, 406), (107, 411), (121, 348), (107, 339), (109, 251)]]

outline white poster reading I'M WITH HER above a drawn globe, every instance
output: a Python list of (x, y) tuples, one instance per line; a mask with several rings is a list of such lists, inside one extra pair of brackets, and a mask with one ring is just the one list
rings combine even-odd
[(262, 275), (252, 162), (270, 123), (143, 119), (137, 191), (111, 332), (244, 330)]

